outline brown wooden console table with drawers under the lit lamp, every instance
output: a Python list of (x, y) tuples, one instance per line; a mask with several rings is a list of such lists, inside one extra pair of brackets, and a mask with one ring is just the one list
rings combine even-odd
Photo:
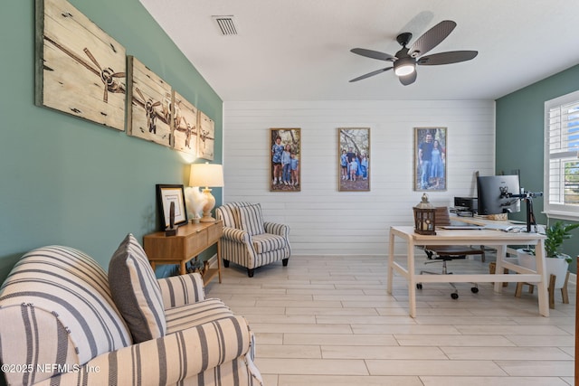
[(179, 273), (185, 275), (185, 264), (199, 253), (217, 244), (217, 268), (209, 268), (204, 273), (204, 284), (215, 275), (221, 283), (221, 236), (223, 221), (186, 224), (179, 227), (176, 236), (165, 236), (165, 231), (147, 234), (143, 238), (143, 248), (153, 269), (157, 264), (179, 264)]

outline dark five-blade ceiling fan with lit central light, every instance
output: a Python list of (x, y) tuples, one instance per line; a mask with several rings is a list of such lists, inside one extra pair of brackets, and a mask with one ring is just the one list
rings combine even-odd
[(434, 47), (439, 45), (452, 30), (456, 27), (456, 23), (451, 20), (444, 20), (439, 24), (434, 25), (430, 30), (423, 33), (410, 48), (406, 47), (413, 38), (412, 33), (401, 33), (396, 37), (396, 41), (402, 45), (402, 49), (396, 54), (390, 55), (385, 52), (378, 52), (373, 50), (366, 50), (365, 48), (353, 48), (350, 50), (358, 55), (366, 58), (377, 59), (379, 61), (392, 61), (392, 67), (368, 72), (365, 75), (359, 76), (350, 82), (363, 80), (384, 71), (394, 69), (394, 73), (404, 86), (413, 84), (416, 80), (416, 65), (420, 66), (434, 66), (439, 64), (458, 63), (460, 61), (470, 61), (474, 59), (479, 52), (476, 51), (450, 51), (433, 53), (432, 55), (422, 56), (426, 52), (431, 51)]

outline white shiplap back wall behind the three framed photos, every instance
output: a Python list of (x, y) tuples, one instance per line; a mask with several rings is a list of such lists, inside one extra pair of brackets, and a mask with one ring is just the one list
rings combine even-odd
[[(270, 128), (301, 128), (301, 192), (270, 192)], [(338, 192), (337, 128), (370, 127), (370, 192)], [(391, 225), (411, 225), (413, 127), (448, 127), (448, 205), (494, 174), (494, 101), (225, 102), (223, 202), (260, 202), (289, 224), (296, 255), (385, 255)]]

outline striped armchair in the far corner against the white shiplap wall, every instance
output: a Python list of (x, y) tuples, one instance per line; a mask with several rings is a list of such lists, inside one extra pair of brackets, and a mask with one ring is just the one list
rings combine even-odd
[(284, 267), (288, 265), (289, 226), (263, 221), (259, 203), (229, 202), (217, 208), (215, 215), (223, 220), (221, 253), (225, 267), (233, 261), (247, 268), (252, 278), (255, 268), (279, 260)]

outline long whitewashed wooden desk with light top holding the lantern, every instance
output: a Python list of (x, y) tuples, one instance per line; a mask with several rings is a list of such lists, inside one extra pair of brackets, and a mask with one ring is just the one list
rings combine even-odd
[[(437, 230), (436, 235), (414, 233), (413, 227), (394, 226), (390, 228), (388, 257), (388, 294), (392, 294), (394, 270), (408, 281), (409, 313), (416, 315), (416, 283), (465, 283), (494, 282), (495, 292), (500, 292), (503, 282), (532, 282), (538, 287), (539, 313), (549, 315), (547, 281), (545, 272), (545, 235), (538, 233), (509, 233), (493, 230)], [(395, 238), (406, 244), (406, 268), (394, 261)], [(497, 268), (495, 274), (477, 275), (416, 275), (414, 270), (414, 249), (422, 245), (490, 245), (497, 249)], [(517, 266), (504, 260), (508, 245), (536, 245), (536, 271)], [(513, 270), (519, 275), (506, 275), (503, 268)]]

